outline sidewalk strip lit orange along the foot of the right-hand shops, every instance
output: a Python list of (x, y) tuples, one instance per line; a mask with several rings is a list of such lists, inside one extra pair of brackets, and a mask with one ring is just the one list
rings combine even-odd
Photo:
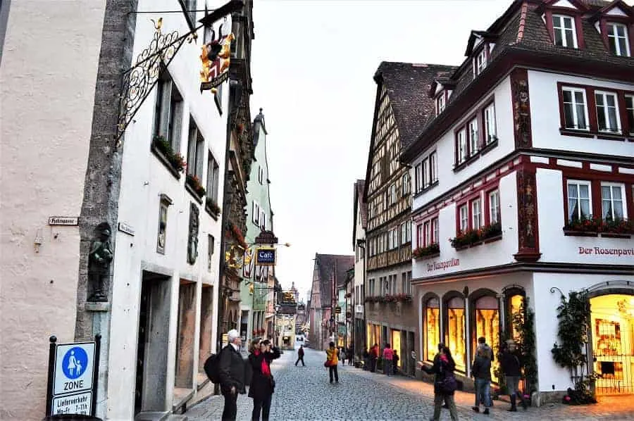
[[(381, 384), (390, 384), (393, 387), (404, 389), (411, 394), (418, 394), (425, 397), (433, 396), (434, 385), (421, 380), (413, 379), (405, 376), (386, 376), (380, 373), (372, 373), (355, 368), (351, 365), (340, 365), (340, 369), (354, 372), (355, 375), (372, 379)], [(469, 392), (456, 391), (454, 394), (456, 406), (462, 408), (471, 408), (473, 406), (474, 395)], [(493, 401), (493, 412), (496, 419), (505, 419), (511, 413), (507, 413), (506, 409), (510, 404), (505, 401)], [(504, 414), (502, 414), (502, 412)], [(517, 414), (523, 414), (521, 408)], [(530, 413), (528, 419), (548, 419), (548, 420), (599, 420), (609, 418), (610, 420), (634, 420), (634, 396), (603, 396), (599, 398), (599, 403), (588, 406), (570, 406), (562, 403), (547, 403), (540, 408), (529, 408), (526, 415)], [(475, 416), (476, 414), (473, 413)], [(535, 417), (537, 415), (537, 417)]]

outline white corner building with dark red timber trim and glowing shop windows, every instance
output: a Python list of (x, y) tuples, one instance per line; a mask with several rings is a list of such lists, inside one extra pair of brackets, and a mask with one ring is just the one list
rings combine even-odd
[(590, 308), (583, 374), (599, 375), (598, 395), (634, 393), (634, 66), (631, 37), (619, 49), (609, 35), (631, 34), (633, 17), (622, 3), (513, 4), (431, 85), (432, 118), (402, 155), (420, 360), (444, 342), (468, 384), (477, 338), (518, 339), (528, 299), (537, 383), (526, 391), (561, 398), (579, 378), (552, 356), (557, 307), (578, 292)]

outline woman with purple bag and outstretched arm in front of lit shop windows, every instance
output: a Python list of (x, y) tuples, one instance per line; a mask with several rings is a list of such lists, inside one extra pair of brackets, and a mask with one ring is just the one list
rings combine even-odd
[(454, 363), (449, 348), (444, 344), (438, 344), (438, 353), (434, 357), (432, 367), (425, 367), (421, 361), (418, 362), (418, 365), (421, 370), (434, 375), (434, 415), (431, 420), (440, 420), (440, 408), (444, 401), (449, 407), (452, 421), (457, 421), (458, 410), (456, 410), (456, 402), (454, 401), (454, 391), (456, 391), (457, 386), (454, 377), (456, 363)]

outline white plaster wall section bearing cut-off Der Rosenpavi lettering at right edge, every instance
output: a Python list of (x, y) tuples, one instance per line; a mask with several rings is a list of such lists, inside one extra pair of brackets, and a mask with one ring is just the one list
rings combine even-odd
[[(537, 168), (536, 182), (537, 218), (542, 253), (540, 262), (634, 264), (634, 246), (631, 239), (564, 236), (566, 218), (561, 171)], [(594, 197), (592, 199), (597, 200)], [(602, 254), (604, 249), (614, 250), (616, 254)], [(621, 256), (618, 254), (619, 251)], [(628, 251), (629, 254), (625, 254)]]

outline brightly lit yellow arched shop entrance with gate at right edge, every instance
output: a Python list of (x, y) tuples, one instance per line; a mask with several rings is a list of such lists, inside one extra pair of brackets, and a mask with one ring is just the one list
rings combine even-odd
[(590, 311), (597, 395), (634, 394), (634, 296), (594, 297)]

